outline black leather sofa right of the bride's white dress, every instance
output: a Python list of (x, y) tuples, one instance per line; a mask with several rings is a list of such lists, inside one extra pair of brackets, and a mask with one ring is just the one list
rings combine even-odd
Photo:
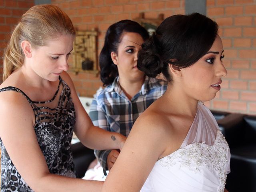
[(256, 192), (256, 116), (225, 113), (216, 120), (231, 153), (226, 189)]

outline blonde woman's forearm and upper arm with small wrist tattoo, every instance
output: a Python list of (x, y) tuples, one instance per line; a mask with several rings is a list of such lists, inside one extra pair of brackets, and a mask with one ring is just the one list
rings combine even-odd
[(61, 77), (68, 84), (71, 90), (71, 97), (76, 110), (76, 124), (74, 132), (78, 139), (85, 146), (92, 149), (121, 149), (126, 137), (94, 126), (76, 94), (76, 90), (70, 76), (66, 72), (63, 72)]

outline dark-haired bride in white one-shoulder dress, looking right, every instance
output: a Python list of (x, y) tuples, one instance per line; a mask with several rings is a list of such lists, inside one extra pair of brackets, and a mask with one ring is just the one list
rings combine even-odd
[(223, 192), (230, 150), (210, 110), (227, 71), (218, 25), (198, 13), (166, 18), (142, 44), (138, 68), (166, 93), (136, 120), (102, 191)]

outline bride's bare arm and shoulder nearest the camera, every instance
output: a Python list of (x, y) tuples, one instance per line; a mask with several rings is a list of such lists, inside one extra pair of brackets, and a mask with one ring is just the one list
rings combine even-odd
[(103, 192), (140, 191), (168, 141), (165, 122), (158, 119), (157, 114), (142, 114), (136, 120), (103, 184)]

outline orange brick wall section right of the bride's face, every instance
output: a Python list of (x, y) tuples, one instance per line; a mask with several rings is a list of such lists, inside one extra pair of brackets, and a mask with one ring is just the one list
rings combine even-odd
[(219, 24), (228, 75), (206, 105), (256, 114), (256, 0), (207, 0), (207, 16)]

